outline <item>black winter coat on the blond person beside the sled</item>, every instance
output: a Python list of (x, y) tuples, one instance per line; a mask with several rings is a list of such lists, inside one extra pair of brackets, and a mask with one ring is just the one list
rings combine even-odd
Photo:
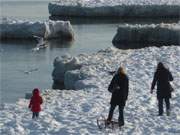
[(111, 105), (125, 106), (129, 91), (128, 77), (125, 74), (115, 74), (108, 91), (112, 92)]

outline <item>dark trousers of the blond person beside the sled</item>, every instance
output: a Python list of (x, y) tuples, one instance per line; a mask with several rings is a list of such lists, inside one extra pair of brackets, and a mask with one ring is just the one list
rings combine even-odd
[[(108, 115), (108, 121), (112, 120), (113, 117), (113, 113), (114, 113), (114, 109), (116, 108), (117, 105), (111, 105), (110, 110), (109, 110), (109, 115)], [(119, 126), (123, 126), (124, 125), (124, 106), (119, 106), (119, 118), (118, 118), (118, 122), (119, 122)]]

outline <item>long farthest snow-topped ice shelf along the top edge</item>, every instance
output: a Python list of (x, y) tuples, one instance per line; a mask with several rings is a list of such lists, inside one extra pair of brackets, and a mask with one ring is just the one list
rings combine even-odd
[(50, 2), (52, 16), (179, 18), (179, 0), (60, 0)]

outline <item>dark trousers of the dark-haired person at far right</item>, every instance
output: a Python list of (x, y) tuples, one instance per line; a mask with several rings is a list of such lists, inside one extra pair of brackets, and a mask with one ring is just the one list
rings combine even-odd
[(166, 103), (166, 111), (170, 110), (170, 101), (169, 98), (159, 98), (158, 99), (158, 107), (159, 107), (159, 115), (163, 114), (163, 101)]

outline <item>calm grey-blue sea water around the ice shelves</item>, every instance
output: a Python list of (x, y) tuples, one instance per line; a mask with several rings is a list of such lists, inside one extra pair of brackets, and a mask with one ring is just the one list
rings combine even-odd
[[(0, 0), (1, 18), (29, 21), (52, 19), (48, 13), (51, 0)], [(54, 19), (54, 18), (53, 18)], [(13, 103), (34, 88), (52, 89), (53, 61), (65, 54), (92, 54), (112, 45), (119, 24), (139, 20), (58, 18), (70, 20), (75, 33), (71, 42), (50, 41), (47, 48), (32, 51), (36, 42), (0, 42), (0, 102)], [(156, 20), (154, 20), (156, 23)], [(139, 23), (139, 22), (138, 22)], [(140, 23), (145, 23), (140, 21)], [(149, 23), (149, 22), (146, 22)]]

